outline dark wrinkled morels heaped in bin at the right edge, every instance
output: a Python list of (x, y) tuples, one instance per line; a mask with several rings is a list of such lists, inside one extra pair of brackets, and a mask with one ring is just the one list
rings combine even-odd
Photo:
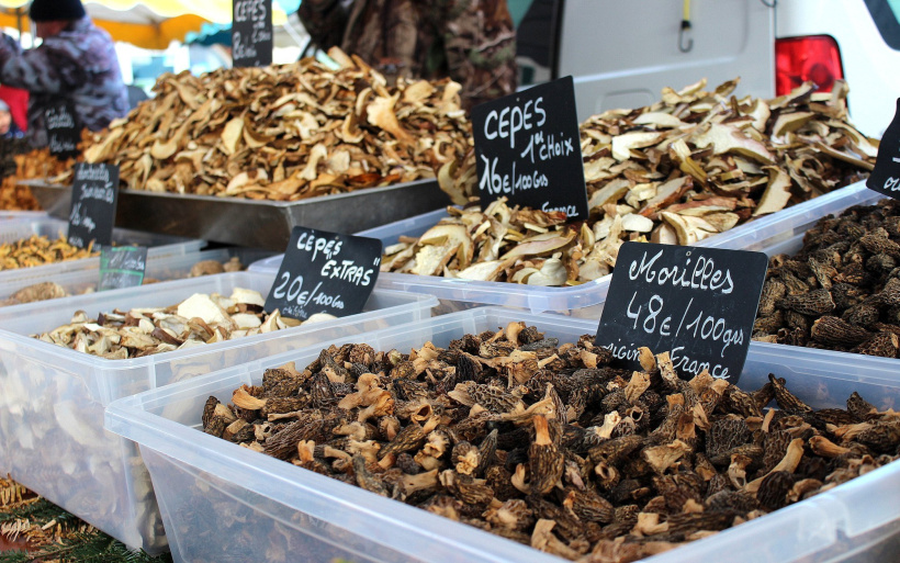
[(755, 340), (900, 354), (900, 202), (824, 217), (794, 256), (769, 260)]

